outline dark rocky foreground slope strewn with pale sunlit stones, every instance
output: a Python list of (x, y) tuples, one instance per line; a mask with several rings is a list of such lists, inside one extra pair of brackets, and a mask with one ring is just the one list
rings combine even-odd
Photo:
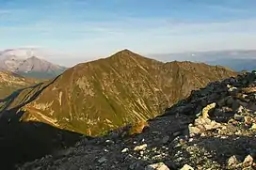
[[(138, 132), (138, 134), (135, 134)], [(256, 73), (192, 91), (165, 115), (18, 169), (255, 169)]]

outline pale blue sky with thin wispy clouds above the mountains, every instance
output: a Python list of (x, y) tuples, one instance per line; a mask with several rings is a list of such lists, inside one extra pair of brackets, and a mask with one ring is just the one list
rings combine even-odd
[(0, 0), (0, 50), (63, 65), (139, 54), (256, 49), (255, 0)]

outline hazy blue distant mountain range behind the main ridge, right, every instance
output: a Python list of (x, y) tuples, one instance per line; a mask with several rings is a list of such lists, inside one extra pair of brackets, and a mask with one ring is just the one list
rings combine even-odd
[(210, 65), (229, 67), (232, 70), (256, 70), (256, 50), (231, 50), (191, 52), (180, 54), (151, 54), (153, 58), (162, 61), (193, 61), (203, 62)]

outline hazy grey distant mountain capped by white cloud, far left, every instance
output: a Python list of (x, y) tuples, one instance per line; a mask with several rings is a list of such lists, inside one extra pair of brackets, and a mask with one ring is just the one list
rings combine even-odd
[(0, 52), (0, 70), (8, 70), (25, 77), (54, 78), (67, 68), (52, 64), (35, 49), (10, 49)]

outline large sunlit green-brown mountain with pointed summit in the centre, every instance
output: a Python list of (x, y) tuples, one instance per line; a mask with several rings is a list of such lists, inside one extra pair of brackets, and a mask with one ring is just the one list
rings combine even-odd
[(22, 106), (22, 121), (43, 122), (94, 136), (159, 116), (192, 89), (235, 75), (221, 67), (161, 63), (123, 50), (76, 65), (54, 80), (24, 89), (5, 110)]

